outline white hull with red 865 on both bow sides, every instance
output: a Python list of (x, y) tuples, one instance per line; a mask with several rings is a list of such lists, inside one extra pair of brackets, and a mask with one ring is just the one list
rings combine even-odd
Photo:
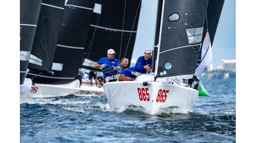
[(110, 82), (103, 85), (111, 109), (125, 105), (143, 107), (148, 114), (154, 115), (159, 108), (178, 106), (190, 110), (198, 91), (182, 85), (149, 81)]

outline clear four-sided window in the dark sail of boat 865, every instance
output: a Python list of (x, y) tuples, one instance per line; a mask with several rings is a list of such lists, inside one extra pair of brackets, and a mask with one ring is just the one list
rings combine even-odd
[(193, 28), (193, 29), (186, 29), (186, 31), (187, 31), (189, 44), (198, 43), (198, 42), (202, 41), (203, 27)]

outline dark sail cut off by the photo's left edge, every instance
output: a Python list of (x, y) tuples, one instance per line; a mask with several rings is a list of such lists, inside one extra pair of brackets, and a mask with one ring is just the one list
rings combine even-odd
[(20, 0), (20, 84), (24, 83), (42, 0)]

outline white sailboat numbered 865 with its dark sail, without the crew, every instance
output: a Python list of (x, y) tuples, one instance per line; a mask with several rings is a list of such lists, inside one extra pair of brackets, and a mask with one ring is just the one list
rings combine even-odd
[(133, 105), (154, 115), (160, 108), (192, 108), (199, 92), (190, 81), (199, 81), (195, 73), (208, 7), (205, 0), (158, 1), (151, 73), (105, 83), (111, 109)]

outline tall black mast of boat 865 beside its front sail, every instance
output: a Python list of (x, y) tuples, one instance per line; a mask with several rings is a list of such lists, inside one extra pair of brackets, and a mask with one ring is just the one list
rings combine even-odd
[[(154, 49), (153, 49), (153, 53), (152, 53), (152, 68), (151, 68), (151, 72), (153, 71), (153, 73), (155, 73), (155, 63), (156, 63), (156, 59), (157, 59), (157, 50), (158, 50), (158, 35), (159, 35), (159, 23), (161, 22), (159, 17), (160, 17), (160, 10), (161, 10), (161, 2), (162, 0), (158, 0), (158, 8), (157, 8), (157, 14), (156, 14), (156, 26), (155, 26), (155, 37), (154, 37)], [(160, 17), (161, 18), (161, 17)], [(155, 73), (155, 75), (157, 75), (157, 73)]]

